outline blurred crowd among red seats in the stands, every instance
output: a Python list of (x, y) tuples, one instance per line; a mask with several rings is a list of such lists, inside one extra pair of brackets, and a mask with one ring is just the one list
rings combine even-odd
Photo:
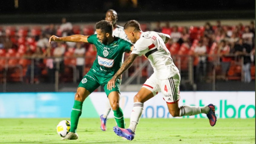
[[(248, 22), (248, 25), (222, 25), (221, 21), (212, 25), (206, 22), (200, 27), (170, 26), (169, 22), (161, 27), (160, 24), (157, 22), (152, 29), (142, 24), (141, 28), (143, 31), (153, 30), (170, 35), (171, 40), (166, 47), (181, 71), (188, 69), (188, 56), (193, 56), (195, 81), (211, 75), (213, 67), (223, 80), (241, 80), (242, 70), (244, 82), (255, 79), (254, 21)], [(49, 45), (48, 39), (51, 35), (91, 35), (94, 31), (93, 25), (72, 25), (65, 18), (61, 25), (50, 24), (45, 28), (40, 25), (19, 28), (0, 26), (0, 82), (3, 81), (4, 71), (7, 71), (7, 81), (24, 80), (30, 83), (31, 68), (34, 69), (34, 83), (54, 83), (56, 70), (64, 82), (73, 81), (73, 73), (77, 71), (79, 82), (95, 60), (97, 52), (92, 45), (72, 42), (52, 42)], [(215, 54), (220, 57), (219, 61)], [(31, 61), (31, 58), (34, 60)], [(243, 65), (239, 64), (242, 59)], [(142, 73), (142, 76), (148, 77), (152, 69), (148, 66)]]

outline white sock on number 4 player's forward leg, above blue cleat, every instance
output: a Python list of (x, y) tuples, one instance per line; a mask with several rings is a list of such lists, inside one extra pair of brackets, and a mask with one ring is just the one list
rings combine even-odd
[(143, 107), (144, 107), (143, 103), (140, 103), (140, 102), (133, 103), (133, 111), (131, 113), (130, 126), (129, 126), (129, 129), (131, 129), (133, 132), (135, 132), (136, 126), (139, 123), (139, 119), (142, 115)]

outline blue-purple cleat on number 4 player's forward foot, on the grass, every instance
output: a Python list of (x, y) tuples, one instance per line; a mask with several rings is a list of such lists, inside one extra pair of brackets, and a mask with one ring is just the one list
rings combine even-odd
[(117, 136), (122, 136), (126, 138), (127, 140), (133, 140), (135, 133), (131, 129), (123, 129), (117, 126), (113, 127), (114, 132), (117, 134)]

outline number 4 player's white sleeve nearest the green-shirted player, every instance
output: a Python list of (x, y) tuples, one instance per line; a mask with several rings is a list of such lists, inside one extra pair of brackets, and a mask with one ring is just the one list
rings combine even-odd
[(149, 46), (151, 44), (148, 44), (146, 41), (140, 41), (142, 39), (139, 39), (133, 47), (133, 51), (131, 54), (138, 54), (139, 56), (145, 55), (146, 52), (149, 50)]

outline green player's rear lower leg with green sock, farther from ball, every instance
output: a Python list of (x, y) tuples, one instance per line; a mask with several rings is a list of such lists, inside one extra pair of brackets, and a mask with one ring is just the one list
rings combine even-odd
[(108, 95), (108, 99), (109, 99), (110, 106), (114, 112), (114, 117), (117, 122), (117, 126), (121, 128), (125, 128), (123, 111), (119, 107), (120, 93), (117, 91), (112, 91)]

